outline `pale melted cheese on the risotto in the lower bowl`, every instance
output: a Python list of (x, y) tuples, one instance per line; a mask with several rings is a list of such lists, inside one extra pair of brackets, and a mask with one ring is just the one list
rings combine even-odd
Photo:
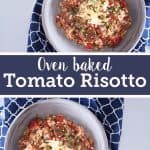
[(60, 141), (48, 140), (46, 143), (43, 143), (40, 148), (43, 150), (73, 150), (68, 148), (66, 145), (63, 145)]

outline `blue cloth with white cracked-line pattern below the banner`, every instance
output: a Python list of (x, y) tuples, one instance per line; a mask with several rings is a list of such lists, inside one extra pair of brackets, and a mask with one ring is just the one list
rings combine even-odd
[[(121, 98), (65, 98), (92, 111), (104, 126), (109, 147), (118, 150), (121, 136), (124, 100)], [(26, 107), (47, 99), (7, 98), (0, 108), (0, 150), (4, 150), (6, 133), (15, 117)], [(49, 99), (50, 100), (50, 99)], [(60, 112), (61, 113), (61, 112)]]

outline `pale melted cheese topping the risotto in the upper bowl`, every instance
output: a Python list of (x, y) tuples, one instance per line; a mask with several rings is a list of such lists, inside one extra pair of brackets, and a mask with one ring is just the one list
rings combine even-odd
[(100, 0), (88, 0), (80, 5), (78, 16), (88, 20), (88, 23), (101, 25), (104, 21), (107, 21), (104, 13), (107, 11), (109, 6), (108, 0), (102, 2)]

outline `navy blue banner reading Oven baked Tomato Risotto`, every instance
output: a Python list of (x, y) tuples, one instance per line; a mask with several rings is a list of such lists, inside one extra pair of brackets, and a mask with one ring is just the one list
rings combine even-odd
[(0, 95), (150, 95), (150, 56), (0, 55)]

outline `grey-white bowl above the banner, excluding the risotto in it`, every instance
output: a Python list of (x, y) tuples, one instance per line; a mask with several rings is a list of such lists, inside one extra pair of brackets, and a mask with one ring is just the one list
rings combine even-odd
[[(126, 0), (132, 16), (132, 26), (123, 41), (115, 48), (104, 48), (104, 52), (127, 52), (139, 41), (145, 26), (146, 10), (144, 0)], [(56, 15), (59, 13), (60, 0), (44, 0), (42, 23), (49, 42), (59, 52), (86, 52), (84, 48), (68, 40), (56, 26)]]

